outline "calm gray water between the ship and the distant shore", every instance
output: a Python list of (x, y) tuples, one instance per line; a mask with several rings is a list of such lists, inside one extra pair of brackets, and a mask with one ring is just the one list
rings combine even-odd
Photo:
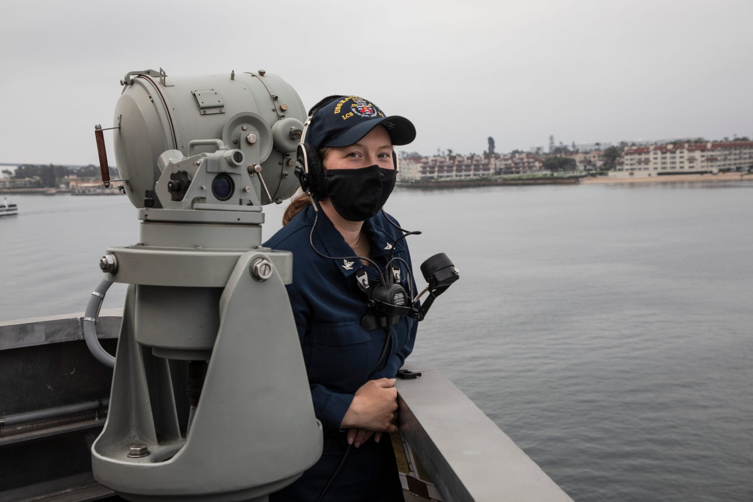
[[(13, 200), (0, 320), (81, 312), (105, 248), (138, 241), (125, 197)], [(398, 190), (388, 210), (424, 232), (416, 269), (444, 251), (461, 271), (413, 360), (575, 500), (753, 500), (753, 183)]]

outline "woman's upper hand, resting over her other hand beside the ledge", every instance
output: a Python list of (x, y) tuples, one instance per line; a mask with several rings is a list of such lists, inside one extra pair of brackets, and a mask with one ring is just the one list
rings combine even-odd
[(357, 427), (375, 432), (395, 433), (398, 389), (395, 379), (369, 380), (355, 391), (340, 428)]

